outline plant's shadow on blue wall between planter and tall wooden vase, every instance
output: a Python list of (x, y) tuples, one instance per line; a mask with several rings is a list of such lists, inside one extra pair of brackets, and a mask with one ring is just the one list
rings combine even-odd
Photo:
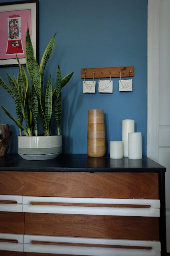
[[(72, 153), (73, 151), (73, 138), (70, 137), (70, 134), (75, 119), (75, 113), (79, 111), (83, 101), (83, 93), (80, 91), (78, 94), (77, 86), (78, 83), (73, 83), (73, 85), (68, 86), (67, 95), (64, 95), (62, 99), (62, 120), (65, 120), (64, 123), (62, 123), (61, 120), (61, 130), (63, 136), (62, 151), (66, 153)], [(70, 94), (71, 97), (69, 97)], [(72, 101), (70, 101), (70, 99)], [(67, 136), (64, 134), (67, 134)]]

